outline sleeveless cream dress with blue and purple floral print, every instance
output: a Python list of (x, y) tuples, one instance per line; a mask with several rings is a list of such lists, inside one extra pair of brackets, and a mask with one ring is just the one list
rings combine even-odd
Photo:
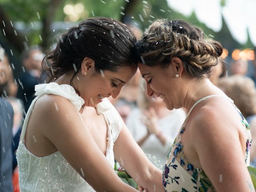
[[(242, 116), (240, 110), (234, 105), (234, 102), (230, 98), (220, 95), (210, 95), (198, 100), (192, 106), (192, 108), (187, 114), (187, 117), (182, 127), (180, 128), (180, 132), (178, 133), (174, 140), (174, 143), (172, 144), (170, 152), (168, 153), (167, 156), (166, 164), (164, 166), (162, 175), (162, 184), (164, 186), (165, 192), (207, 192), (208, 190), (211, 192), (216, 192), (214, 186), (210, 182), (210, 179), (204, 173), (204, 170), (196, 168), (190, 162), (188, 162), (183, 152), (182, 145), (182, 134), (185, 131), (185, 124), (191, 111), (199, 102), (214, 96), (228, 99), (230, 102), (232, 102), (233, 106), (240, 114), (241, 126), (244, 126), (244, 131), (246, 132), (247, 136), (246, 153), (244, 160), (246, 162), (246, 166), (249, 166), (249, 147), (252, 142), (249, 124), (247, 123), (246, 119)], [(221, 175), (220, 180), (222, 180)]]

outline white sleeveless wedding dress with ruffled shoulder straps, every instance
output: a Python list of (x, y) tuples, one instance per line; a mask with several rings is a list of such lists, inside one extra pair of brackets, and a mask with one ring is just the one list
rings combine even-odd
[[(84, 104), (70, 85), (57, 83), (35, 86), (36, 98), (33, 100), (24, 120), (21, 141), (16, 152), (20, 181), (20, 192), (95, 192), (93, 188), (70, 166), (59, 151), (48, 156), (37, 157), (25, 146), (24, 138), (30, 114), (36, 100), (43, 94), (54, 94), (68, 99), (77, 111)], [(114, 168), (113, 146), (122, 129), (122, 119), (114, 106), (105, 98), (96, 107), (103, 114), (108, 128), (106, 158)], [(35, 140), (36, 142), (36, 140)]]

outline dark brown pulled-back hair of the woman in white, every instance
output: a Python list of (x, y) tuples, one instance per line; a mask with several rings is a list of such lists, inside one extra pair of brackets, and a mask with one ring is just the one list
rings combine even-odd
[(86, 19), (62, 34), (56, 48), (42, 61), (42, 68), (48, 75), (47, 82), (73, 72), (70, 80), (73, 86), (73, 79), (85, 57), (94, 60), (96, 72), (115, 72), (122, 66), (137, 66), (135, 42), (134, 34), (118, 20), (103, 17)]

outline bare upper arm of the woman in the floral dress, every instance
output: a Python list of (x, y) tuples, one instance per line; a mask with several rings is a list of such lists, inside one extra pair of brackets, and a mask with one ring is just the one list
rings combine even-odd
[(215, 111), (209, 108), (194, 118), (191, 127), (194, 150), (218, 192), (252, 192), (254, 187), (244, 160), (246, 135), (241, 130), (240, 116), (234, 108), (224, 107)]

